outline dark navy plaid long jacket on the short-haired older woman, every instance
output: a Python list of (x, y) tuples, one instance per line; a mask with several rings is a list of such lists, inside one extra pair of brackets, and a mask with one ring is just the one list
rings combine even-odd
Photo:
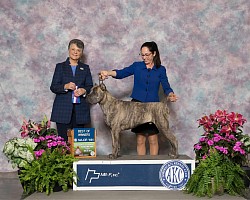
[[(51, 121), (53, 122), (70, 123), (73, 111), (72, 90), (64, 90), (64, 85), (69, 82), (75, 83), (79, 88), (84, 88), (88, 94), (93, 87), (89, 66), (78, 62), (75, 76), (73, 76), (69, 58), (63, 63), (56, 64), (50, 86), (50, 90), (56, 94), (51, 113)], [(85, 97), (81, 96), (80, 103), (75, 104), (75, 112), (77, 124), (90, 123), (90, 105)]]

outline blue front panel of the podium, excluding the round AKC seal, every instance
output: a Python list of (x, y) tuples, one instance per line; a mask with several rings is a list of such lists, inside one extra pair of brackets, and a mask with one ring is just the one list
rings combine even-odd
[[(185, 165), (191, 172), (191, 164)], [(163, 164), (78, 164), (77, 187), (163, 186), (159, 178), (162, 166)]]

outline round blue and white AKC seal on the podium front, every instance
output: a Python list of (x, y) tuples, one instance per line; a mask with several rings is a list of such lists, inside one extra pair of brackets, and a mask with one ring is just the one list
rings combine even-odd
[(182, 189), (190, 177), (188, 166), (179, 160), (169, 161), (162, 165), (159, 179), (164, 187), (172, 190)]

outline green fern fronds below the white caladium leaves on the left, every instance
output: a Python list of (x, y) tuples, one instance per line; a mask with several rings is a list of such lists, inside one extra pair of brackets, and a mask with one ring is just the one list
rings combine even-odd
[(65, 154), (61, 148), (47, 149), (39, 159), (27, 164), (20, 170), (19, 178), (26, 194), (35, 191), (53, 192), (55, 186), (61, 186), (63, 191), (68, 191), (69, 186), (77, 178), (73, 170), (73, 162), (77, 159), (71, 154)]

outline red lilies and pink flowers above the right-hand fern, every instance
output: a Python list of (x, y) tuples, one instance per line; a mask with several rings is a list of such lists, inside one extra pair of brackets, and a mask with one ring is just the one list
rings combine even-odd
[(210, 150), (215, 148), (220, 154), (238, 164), (242, 165), (246, 161), (246, 156), (250, 152), (250, 139), (241, 130), (246, 122), (241, 114), (217, 110), (214, 114), (198, 119), (198, 122), (199, 127), (203, 127), (205, 132), (194, 145), (197, 160), (206, 159), (210, 155)]

